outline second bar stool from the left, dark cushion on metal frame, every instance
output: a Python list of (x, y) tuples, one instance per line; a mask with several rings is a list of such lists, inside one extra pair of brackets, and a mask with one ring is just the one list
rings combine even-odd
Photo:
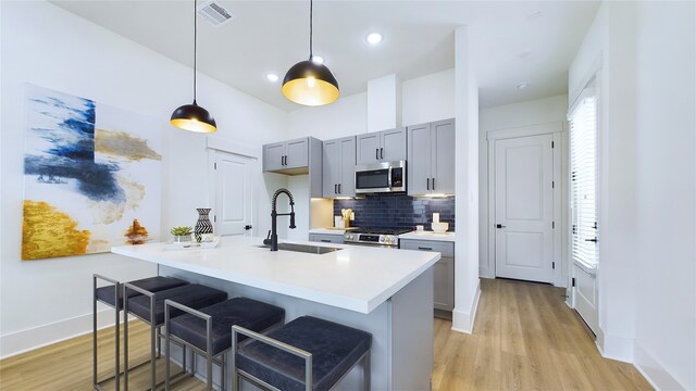
[[(156, 340), (158, 330), (164, 325), (164, 301), (167, 299), (175, 300), (191, 308), (202, 308), (227, 299), (227, 293), (209, 288), (198, 283), (191, 283), (183, 287), (167, 289), (159, 292), (149, 292), (138, 288), (132, 283), (124, 283), (124, 303), (123, 308), (126, 314), (133, 314), (140, 320), (150, 325), (150, 390), (157, 387), (156, 374)], [(140, 292), (141, 295), (133, 299), (128, 298), (128, 291), (134, 290)], [(183, 314), (181, 310), (172, 312), (172, 317)], [(125, 323), (123, 329), (123, 350), (124, 350), (124, 390), (128, 390), (128, 323)]]

